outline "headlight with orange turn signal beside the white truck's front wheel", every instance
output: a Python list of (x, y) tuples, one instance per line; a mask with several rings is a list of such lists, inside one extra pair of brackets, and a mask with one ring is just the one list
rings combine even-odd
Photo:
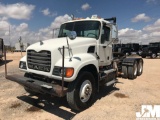
[[(73, 76), (74, 68), (64, 68), (64, 77), (70, 78)], [(53, 75), (62, 76), (62, 67), (55, 66)]]

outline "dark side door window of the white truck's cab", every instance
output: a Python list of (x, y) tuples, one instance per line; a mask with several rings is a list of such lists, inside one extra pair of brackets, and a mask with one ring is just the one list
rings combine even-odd
[(110, 28), (103, 26), (102, 35), (101, 35), (101, 43), (104, 44), (105, 41), (109, 41), (110, 38)]

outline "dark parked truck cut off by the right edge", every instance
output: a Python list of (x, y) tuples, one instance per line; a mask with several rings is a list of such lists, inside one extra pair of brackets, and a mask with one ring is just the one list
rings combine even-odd
[(150, 56), (151, 58), (156, 58), (160, 55), (160, 42), (149, 43), (148, 47), (143, 49), (141, 56), (143, 58)]

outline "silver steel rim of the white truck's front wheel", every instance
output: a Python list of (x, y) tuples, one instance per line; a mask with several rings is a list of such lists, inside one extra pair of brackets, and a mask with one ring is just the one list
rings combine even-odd
[(89, 80), (85, 80), (81, 87), (79, 92), (80, 100), (85, 103), (89, 100), (92, 94), (92, 84)]

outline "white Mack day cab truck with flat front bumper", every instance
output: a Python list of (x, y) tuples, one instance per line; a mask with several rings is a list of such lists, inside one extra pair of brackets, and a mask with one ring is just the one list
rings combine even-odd
[(121, 72), (124, 78), (142, 74), (142, 58), (116, 57), (112, 43), (118, 40), (116, 18), (71, 20), (60, 27), (58, 38), (27, 48), (19, 74), (6, 75), (29, 93), (66, 96), (70, 107), (82, 111), (94, 102), (100, 85), (113, 86)]

